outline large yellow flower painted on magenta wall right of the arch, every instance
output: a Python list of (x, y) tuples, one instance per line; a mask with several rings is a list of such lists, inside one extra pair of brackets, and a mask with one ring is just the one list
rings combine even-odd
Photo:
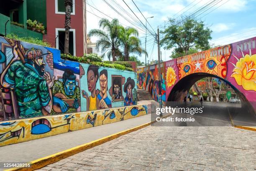
[[(236, 58), (236, 57), (235, 57)], [(256, 91), (256, 54), (246, 54), (238, 59), (231, 77), (235, 78), (238, 85), (242, 85), (245, 90)]]

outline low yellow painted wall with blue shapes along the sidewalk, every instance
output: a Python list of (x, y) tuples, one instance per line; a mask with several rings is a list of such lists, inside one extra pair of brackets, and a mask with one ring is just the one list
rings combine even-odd
[(0, 146), (123, 121), (146, 115), (150, 111), (151, 104), (148, 104), (1, 122)]

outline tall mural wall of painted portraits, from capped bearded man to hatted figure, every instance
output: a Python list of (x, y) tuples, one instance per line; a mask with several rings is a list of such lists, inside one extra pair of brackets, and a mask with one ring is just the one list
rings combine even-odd
[(0, 121), (137, 104), (136, 74), (0, 37)]

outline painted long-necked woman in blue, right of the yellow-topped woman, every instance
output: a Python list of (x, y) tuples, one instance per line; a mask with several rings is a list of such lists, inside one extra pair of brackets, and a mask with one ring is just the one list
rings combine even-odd
[(111, 100), (108, 98), (108, 71), (100, 71), (100, 92), (97, 94), (99, 99), (99, 109), (112, 108)]

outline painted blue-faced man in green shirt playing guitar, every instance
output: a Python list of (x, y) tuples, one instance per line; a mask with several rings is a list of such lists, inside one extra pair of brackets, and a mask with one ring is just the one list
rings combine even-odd
[(51, 115), (77, 112), (80, 101), (80, 88), (76, 85), (76, 76), (72, 70), (65, 70), (62, 81), (54, 80), (52, 88), (53, 110)]

